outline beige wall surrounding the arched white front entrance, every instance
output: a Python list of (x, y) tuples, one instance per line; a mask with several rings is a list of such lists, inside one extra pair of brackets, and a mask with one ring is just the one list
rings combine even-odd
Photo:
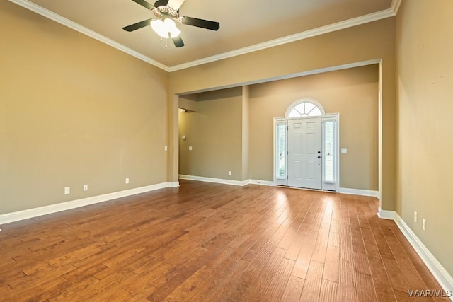
[(250, 86), (250, 178), (273, 180), (273, 117), (311, 98), (340, 113), (340, 187), (378, 190), (379, 65), (331, 71)]

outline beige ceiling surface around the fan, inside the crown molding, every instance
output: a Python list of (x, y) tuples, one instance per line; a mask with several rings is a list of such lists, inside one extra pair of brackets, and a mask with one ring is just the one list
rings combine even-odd
[(281, 43), (284, 37), (283, 41), (290, 42), (304, 35), (394, 16), (396, 3), (401, 0), (185, 0), (180, 16), (218, 21), (220, 28), (212, 31), (178, 23), (185, 42), (180, 48), (174, 47), (171, 40), (166, 48), (149, 26), (131, 33), (122, 30), (126, 25), (154, 17), (132, 0), (10, 1), (82, 33), (88, 32), (151, 64), (174, 70), (222, 55), (270, 47), (278, 39)]

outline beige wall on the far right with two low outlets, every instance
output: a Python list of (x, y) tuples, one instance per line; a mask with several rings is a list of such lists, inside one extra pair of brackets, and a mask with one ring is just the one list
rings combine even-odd
[[(396, 210), (453, 275), (453, 2), (403, 1), (397, 16)], [(418, 211), (418, 223), (413, 221)], [(425, 218), (426, 231), (422, 230)]]

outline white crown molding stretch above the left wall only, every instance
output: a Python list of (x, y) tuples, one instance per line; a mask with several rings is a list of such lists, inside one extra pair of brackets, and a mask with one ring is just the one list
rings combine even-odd
[(100, 42), (103, 42), (111, 47), (116, 48), (117, 50), (120, 50), (122, 52), (125, 52), (127, 54), (130, 54), (132, 57), (136, 57), (137, 59), (141, 59), (144, 62), (147, 62), (151, 65), (154, 65), (156, 67), (159, 67), (160, 69), (164, 69), (165, 71), (168, 71), (168, 66), (161, 64), (157, 62), (154, 59), (151, 59), (150, 57), (145, 56), (144, 54), (141, 54), (135, 50), (132, 50), (129, 47), (126, 47), (125, 45), (122, 45), (118, 42), (115, 42), (108, 37), (105, 37), (99, 33), (96, 33), (93, 30), (90, 30), (79, 23), (75, 23), (74, 21), (71, 21), (67, 18), (64, 18), (63, 16), (60, 16), (57, 13), (54, 13), (52, 11), (49, 11), (46, 8), (43, 8), (42, 6), (39, 6), (37, 4), (34, 4), (33, 2), (30, 2), (28, 0), (8, 0), (14, 4), (18, 4), (19, 6), (22, 6), (23, 8), (27, 8), (30, 11), (33, 11), (35, 13), (40, 14), (41, 16), (44, 16), (46, 18), (49, 18), (52, 21), (55, 21), (57, 23), (60, 23), (64, 26), (67, 26), (68, 28), (71, 28), (73, 30), (78, 31), (79, 33), (83, 33), (84, 35), (88, 35), (88, 37), (92, 37), (93, 39), (96, 39)]

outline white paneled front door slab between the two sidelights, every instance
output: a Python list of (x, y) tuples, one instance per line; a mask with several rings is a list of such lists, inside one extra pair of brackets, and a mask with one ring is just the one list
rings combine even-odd
[(288, 186), (322, 189), (321, 117), (288, 120)]

